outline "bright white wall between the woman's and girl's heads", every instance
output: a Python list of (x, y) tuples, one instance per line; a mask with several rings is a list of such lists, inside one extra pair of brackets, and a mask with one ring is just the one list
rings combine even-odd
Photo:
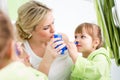
[(82, 22), (96, 23), (94, 6), (88, 0), (38, 0), (53, 9), (55, 28), (74, 40), (74, 29)]

